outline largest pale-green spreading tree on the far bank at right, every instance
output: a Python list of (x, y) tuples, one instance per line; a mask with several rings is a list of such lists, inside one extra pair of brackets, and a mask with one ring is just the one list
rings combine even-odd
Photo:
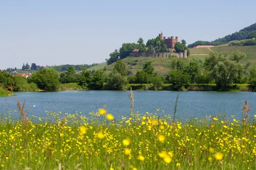
[[(238, 55), (238, 56), (236, 56)], [(233, 85), (233, 81), (239, 76), (240, 72), (245, 71), (249, 64), (239, 63), (243, 53), (234, 52), (231, 58), (218, 52), (210, 52), (209, 57), (205, 59), (204, 67), (209, 71), (211, 78), (223, 90), (227, 90)]]

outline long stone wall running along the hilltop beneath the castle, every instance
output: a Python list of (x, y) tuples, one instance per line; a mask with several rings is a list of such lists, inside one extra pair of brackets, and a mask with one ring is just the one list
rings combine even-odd
[(131, 57), (162, 57), (168, 58), (169, 55), (176, 55), (177, 58), (187, 58), (186, 53), (183, 55), (183, 52), (138, 52), (130, 53)]

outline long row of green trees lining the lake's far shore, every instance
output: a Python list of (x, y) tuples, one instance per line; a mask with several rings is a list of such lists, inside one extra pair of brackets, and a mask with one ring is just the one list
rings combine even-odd
[[(191, 84), (216, 84), (219, 90), (224, 91), (232, 88), (233, 84), (249, 83), (255, 89), (256, 67), (252, 67), (248, 71), (250, 62), (241, 63), (245, 57), (245, 54), (239, 51), (234, 52), (231, 56), (211, 52), (205, 59), (202, 69), (195, 61), (185, 64), (183, 60), (170, 58), (170, 71), (166, 75), (158, 75), (151, 62), (145, 63), (143, 69), (136, 72), (135, 75), (129, 75), (125, 63), (122, 59), (117, 59), (112, 71), (99, 69), (91, 72), (83, 67), (80, 73), (76, 73), (72, 66), (62, 73), (53, 68), (41, 69), (32, 74), (26, 83), (44, 90), (56, 90), (60, 84), (66, 83), (77, 83), (83, 89), (110, 90), (126, 89), (128, 83), (137, 83), (141, 86), (145, 83), (152, 84), (152, 88), (154, 87), (156, 90), (161, 89), (165, 83), (172, 84), (173, 90), (188, 88)], [(18, 90), (19, 86), (25, 83), (23, 81), (26, 81), (26, 78), (13, 76), (6, 71), (0, 72), (2, 88), (13, 86), (14, 90)]]

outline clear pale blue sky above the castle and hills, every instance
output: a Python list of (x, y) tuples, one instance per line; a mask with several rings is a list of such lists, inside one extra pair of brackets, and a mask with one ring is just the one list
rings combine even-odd
[(0, 0), (0, 69), (101, 63), (160, 31), (187, 44), (256, 23), (256, 0)]

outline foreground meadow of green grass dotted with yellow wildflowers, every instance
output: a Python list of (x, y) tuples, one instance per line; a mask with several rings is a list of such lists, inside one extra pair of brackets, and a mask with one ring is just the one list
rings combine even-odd
[(182, 122), (159, 109), (115, 118), (107, 108), (26, 118), (18, 106), (19, 120), (17, 111), (0, 119), (1, 169), (256, 168), (256, 115), (247, 120), (247, 104), (243, 121), (217, 115)]

